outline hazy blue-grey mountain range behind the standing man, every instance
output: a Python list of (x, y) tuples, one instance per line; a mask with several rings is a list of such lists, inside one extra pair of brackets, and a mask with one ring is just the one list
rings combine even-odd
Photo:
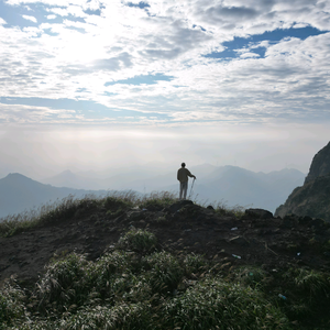
[[(189, 169), (197, 177), (194, 187), (193, 182), (189, 182), (190, 199), (205, 204), (221, 202), (228, 207), (253, 206), (272, 212), (305, 179), (305, 174), (288, 168), (265, 174), (238, 166), (204, 164)], [(9, 174), (0, 179), (0, 217), (54, 202), (68, 195), (79, 198), (88, 194), (105, 195), (112, 190), (142, 194), (165, 190), (177, 194), (176, 172), (177, 168), (151, 165), (122, 168), (102, 178), (97, 173), (74, 174), (65, 170), (41, 182), (18, 173)]]

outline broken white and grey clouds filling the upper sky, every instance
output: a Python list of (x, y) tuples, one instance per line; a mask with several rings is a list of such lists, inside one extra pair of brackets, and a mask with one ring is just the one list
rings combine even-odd
[[(285, 35), (292, 26), (330, 30), (327, 2), (130, 2), (133, 6), (43, 0), (44, 10), (34, 12), (35, 22), (41, 22), (37, 26), (4, 28), (0, 22), (3, 96), (95, 101), (109, 109), (144, 113), (146, 118), (141, 114), (139, 120), (123, 116), (136, 125), (328, 120), (323, 109), (329, 103), (329, 33), (305, 40), (251, 40), (253, 35), (262, 38), (267, 31)], [(36, 10), (33, 0), (7, 3)], [(231, 46), (232, 57), (205, 56), (221, 53), (223, 42), (234, 45), (238, 37), (251, 43)], [(156, 75), (172, 79), (120, 84)], [(160, 117), (153, 120), (155, 112)], [(46, 109), (26, 113), (35, 123), (37, 118), (40, 123), (51, 123), (55, 116)], [(108, 121), (109, 116), (103, 116)], [(101, 114), (63, 113), (54, 123), (66, 120), (99, 124)]]

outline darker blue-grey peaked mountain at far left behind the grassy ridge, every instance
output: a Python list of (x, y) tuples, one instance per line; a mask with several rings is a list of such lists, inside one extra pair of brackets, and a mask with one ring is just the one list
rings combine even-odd
[(22, 174), (12, 173), (0, 179), (0, 217), (22, 212), (42, 204), (62, 199), (68, 195), (82, 197), (87, 194), (105, 194), (103, 190), (56, 188), (43, 185)]

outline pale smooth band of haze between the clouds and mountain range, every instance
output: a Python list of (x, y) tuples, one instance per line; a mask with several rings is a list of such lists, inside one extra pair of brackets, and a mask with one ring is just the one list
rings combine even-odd
[[(182, 162), (235, 165), (253, 172), (297, 168), (307, 173), (314, 155), (323, 147), (327, 127), (219, 125), (177, 129), (12, 129), (0, 133), (0, 177), (21, 173), (42, 179), (70, 169), (99, 172), (136, 165), (175, 170)], [(175, 175), (175, 174), (174, 174)]]

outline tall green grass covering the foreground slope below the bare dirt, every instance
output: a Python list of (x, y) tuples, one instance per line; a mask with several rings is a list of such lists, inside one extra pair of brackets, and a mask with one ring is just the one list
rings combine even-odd
[[(290, 329), (277, 289), (262, 290), (264, 271), (241, 267), (230, 279), (212, 275), (211, 267), (201, 255), (143, 255), (130, 245), (94, 262), (63, 254), (51, 261), (28, 296), (16, 285), (0, 290), (0, 329)], [(329, 301), (329, 275), (289, 273), (292, 300), (300, 290)]]

